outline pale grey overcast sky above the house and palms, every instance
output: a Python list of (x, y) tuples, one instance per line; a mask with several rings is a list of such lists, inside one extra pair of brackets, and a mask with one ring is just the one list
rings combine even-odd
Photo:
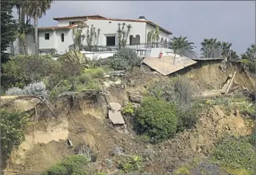
[(53, 17), (100, 14), (104, 17), (146, 19), (187, 36), (200, 48), (204, 38), (233, 43), (243, 53), (255, 43), (255, 1), (54, 1), (38, 26), (56, 26)]

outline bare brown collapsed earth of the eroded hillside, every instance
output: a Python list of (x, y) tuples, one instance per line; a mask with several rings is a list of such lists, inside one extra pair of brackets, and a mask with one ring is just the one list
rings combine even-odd
[[(228, 66), (226, 71), (221, 70), (220, 66), (221, 63), (200, 63), (199, 66), (187, 68), (176, 75), (186, 76), (192, 79), (201, 91), (208, 91), (221, 89), (227, 76), (237, 71), (234, 87), (255, 89), (255, 76), (248, 75), (237, 65)], [(124, 89), (121, 86), (111, 87), (106, 98), (108, 102), (123, 104), (124, 100), (129, 99), (127, 91), (140, 91), (143, 94), (146, 87), (159, 78), (163, 77), (143, 67), (125, 77), (124, 81), (127, 84), (132, 83), (132, 86)], [(24, 102), (27, 102), (27, 99), (20, 104)], [(24, 109), (20, 104), (16, 100), (16, 103), (11, 102), (7, 106)], [(146, 172), (172, 174), (174, 169), (189, 158), (208, 156), (221, 133), (248, 135), (252, 132), (248, 117), (239, 111), (226, 114), (222, 105), (213, 105), (202, 112), (200, 122), (194, 130), (186, 130), (173, 139), (151, 145), (138, 138), (129, 126), (112, 125), (107, 118), (107, 104), (101, 93), (92, 97), (88, 94), (80, 94), (75, 99), (61, 97), (52, 101), (50, 106), (57, 119), (43, 104), (38, 104), (38, 122), (31, 122), (27, 127), (25, 142), (18, 150), (12, 151), (5, 171), (35, 174), (60, 161), (64, 156), (74, 154), (74, 148), (77, 146), (86, 144), (97, 154), (96, 161), (90, 165), (92, 169), (115, 171), (116, 166), (108, 166), (106, 159), (111, 159), (116, 164), (115, 161), (119, 160), (119, 156), (113, 155), (113, 151), (121, 147), (124, 154), (140, 154), (145, 157)], [(33, 112), (33, 107), (25, 110)], [(72, 140), (74, 148), (68, 148), (67, 139)]]

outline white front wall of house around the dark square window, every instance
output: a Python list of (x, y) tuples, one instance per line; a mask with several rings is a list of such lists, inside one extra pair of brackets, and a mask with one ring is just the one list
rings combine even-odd
[[(111, 22), (111, 23), (109, 23)], [(88, 19), (86, 24), (96, 28), (96, 30), (101, 29), (100, 36), (98, 38), (98, 45), (106, 45), (106, 36), (107, 35), (115, 35), (116, 36), (116, 45), (118, 45), (118, 35), (116, 30), (118, 30), (118, 23), (122, 23), (120, 21), (110, 21), (110, 20), (97, 20), (97, 19)], [(129, 35), (140, 35), (140, 42), (145, 42), (145, 22), (125, 22), (127, 25), (131, 24), (132, 28), (129, 32)], [(85, 35), (86, 35), (85, 30)], [(126, 30), (127, 31), (127, 30)], [(86, 38), (83, 42), (84, 45), (87, 45)], [(129, 44), (129, 36), (127, 38), (127, 44)]]

